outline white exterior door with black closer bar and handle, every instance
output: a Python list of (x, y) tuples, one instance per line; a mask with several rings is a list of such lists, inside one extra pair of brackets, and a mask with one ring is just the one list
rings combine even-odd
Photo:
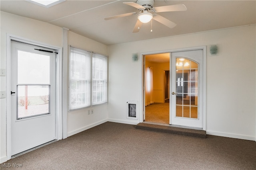
[(56, 54), (46, 51), (11, 42), (12, 156), (56, 139)]

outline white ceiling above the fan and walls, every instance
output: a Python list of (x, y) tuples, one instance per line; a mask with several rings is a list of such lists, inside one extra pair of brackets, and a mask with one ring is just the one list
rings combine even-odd
[(188, 10), (158, 13), (177, 24), (172, 29), (153, 20), (152, 32), (150, 23), (146, 23), (138, 33), (132, 33), (137, 16), (104, 20), (109, 16), (138, 12), (136, 8), (122, 2), (136, 0), (66, 0), (50, 8), (26, 0), (0, 0), (0, 8), (4, 12), (66, 27), (105, 45), (256, 23), (255, 0), (155, 0), (154, 7), (184, 4)]

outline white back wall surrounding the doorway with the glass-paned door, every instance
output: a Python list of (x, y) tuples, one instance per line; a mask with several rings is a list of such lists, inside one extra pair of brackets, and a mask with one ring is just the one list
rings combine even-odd
[(138, 100), (142, 115), (141, 59), (132, 53), (154, 53), (218, 44), (219, 55), (207, 51), (206, 131), (208, 134), (256, 140), (256, 27), (236, 27), (109, 46), (110, 121), (126, 119), (125, 103)]

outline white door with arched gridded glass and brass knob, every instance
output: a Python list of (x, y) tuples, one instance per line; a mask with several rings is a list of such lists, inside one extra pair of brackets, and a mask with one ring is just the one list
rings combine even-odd
[(171, 53), (170, 124), (203, 127), (203, 50)]

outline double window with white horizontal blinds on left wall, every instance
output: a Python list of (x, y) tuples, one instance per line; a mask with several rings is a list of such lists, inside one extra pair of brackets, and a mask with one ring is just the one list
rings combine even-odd
[(70, 47), (69, 110), (107, 102), (108, 58)]

